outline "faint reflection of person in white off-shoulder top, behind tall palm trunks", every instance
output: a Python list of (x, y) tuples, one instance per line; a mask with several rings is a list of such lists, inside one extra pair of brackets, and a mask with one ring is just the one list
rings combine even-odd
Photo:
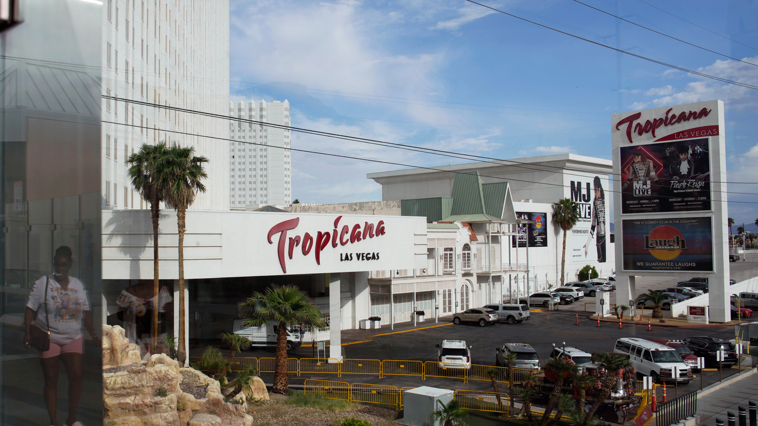
[[(174, 316), (171, 309), (171, 293), (167, 287), (161, 287), (158, 296), (153, 293), (152, 280), (139, 280), (139, 283), (133, 284), (124, 290), (116, 300), (117, 305), (125, 309), (124, 328), (126, 337), (132, 343), (137, 343), (146, 352), (151, 351), (150, 330), (152, 327), (152, 309), (158, 306), (158, 312), (163, 312), (164, 316)], [(160, 316), (160, 315), (159, 315)], [(158, 323), (158, 337), (165, 333), (167, 320)], [(160, 340), (158, 340), (158, 343)]]

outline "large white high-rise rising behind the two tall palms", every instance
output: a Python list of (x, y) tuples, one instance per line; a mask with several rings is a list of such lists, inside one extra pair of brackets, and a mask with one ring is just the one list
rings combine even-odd
[(102, 94), (119, 99), (102, 102), (103, 208), (149, 208), (130, 184), (126, 160), (158, 142), (194, 146), (210, 160), (206, 192), (190, 208), (229, 208), (227, 120), (158, 106), (226, 114), (229, 1), (104, 3)]

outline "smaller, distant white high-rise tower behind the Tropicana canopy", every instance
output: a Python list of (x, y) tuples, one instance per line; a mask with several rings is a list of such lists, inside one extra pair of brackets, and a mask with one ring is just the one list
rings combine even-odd
[(290, 102), (230, 102), (229, 116), (277, 124), (229, 122), (231, 208), (292, 202)]

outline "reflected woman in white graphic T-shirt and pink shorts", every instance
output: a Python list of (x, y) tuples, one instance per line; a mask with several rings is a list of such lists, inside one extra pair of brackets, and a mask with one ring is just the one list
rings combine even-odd
[(83, 426), (76, 418), (82, 393), (82, 323), (96, 346), (101, 346), (95, 328), (92, 327), (92, 317), (89, 316), (86, 288), (80, 280), (68, 276), (72, 258), (71, 249), (67, 246), (60, 246), (55, 250), (55, 273), (41, 277), (34, 283), (24, 315), (26, 333), (23, 336), (23, 346), (27, 349), (31, 348), (30, 327), (34, 315), (37, 316), (35, 324), (43, 330), (48, 330), (50, 324), (50, 349), (39, 352), (38, 356), (45, 377), (45, 406), (50, 415), (50, 424), (53, 426), (58, 426), (58, 360), (63, 362), (68, 377), (68, 417), (65, 424)]

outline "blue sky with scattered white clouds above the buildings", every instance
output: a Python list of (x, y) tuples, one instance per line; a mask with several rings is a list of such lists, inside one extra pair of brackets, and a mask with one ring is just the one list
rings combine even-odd
[[(756, 2), (583, 2), (758, 64)], [(758, 85), (752, 64), (573, 0), (483, 3), (637, 55)], [(230, 22), (232, 99), (288, 99), (295, 127), (493, 158), (559, 152), (610, 158), (610, 114), (722, 99), (728, 180), (758, 182), (758, 90), (619, 54), (463, 0), (232, 0)], [(293, 148), (418, 166), (465, 162), (296, 133)], [(365, 174), (397, 168), (293, 152), (293, 198), (378, 200), (381, 187)], [(735, 183), (729, 190), (758, 193), (758, 185)], [(729, 199), (758, 202), (753, 195)], [(730, 202), (729, 215), (753, 224), (758, 204)]]

